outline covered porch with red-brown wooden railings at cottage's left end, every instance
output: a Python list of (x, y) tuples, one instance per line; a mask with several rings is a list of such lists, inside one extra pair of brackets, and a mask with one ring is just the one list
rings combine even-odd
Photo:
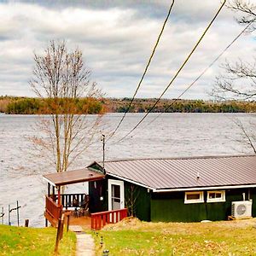
[[(45, 195), (45, 225), (48, 222), (57, 226), (62, 214), (68, 216), (69, 224), (79, 224), (90, 227), (92, 230), (100, 230), (102, 226), (109, 223), (117, 223), (127, 217), (127, 209), (113, 211), (96, 211), (93, 201), (94, 195), (90, 193), (61, 193), (63, 186), (84, 183), (102, 182), (105, 179), (104, 172), (96, 172), (88, 168), (51, 173), (44, 175), (48, 183), (47, 195)], [(93, 213), (91, 213), (93, 212)]]

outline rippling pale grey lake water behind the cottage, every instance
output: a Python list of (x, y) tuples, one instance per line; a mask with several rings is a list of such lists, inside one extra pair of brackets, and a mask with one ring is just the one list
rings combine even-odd
[[(240, 119), (249, 129), (255, 124), (254, 113), (158, 113), (148, 115), (135, 132), (120, 143), (143, 117), (129, 113), (119, 130), (106, 145), (106, 160), (134, 158), (167, 158), (178, 156), (253, 154), (244, 143), (241, 129), (233, 120)], [(113, 130), (121, 113), (104, 116), (105, 128)], [(32, 115), (0, 114), (0, 212), (4, 207), (4, 224), (8, 223), (7, 209), (20, 203), (20, 224), (29, 218), (30, 225), (44, 226), (44, 195), (47, 184), (42, 174), (53, 172), (53, 166), (32, 156), (28, 137), (40, 135), (34, 129), (40, 117)], [(92, 115), (90, 119), (94, 119)], [(150, 123), (153, 119), (154, 122)], [(102, 133), (105, 133), (104, 127)], [(243, 143), (242, 143), (243, 141)], [(102, 142), (94, 143), (73, 168), (84, 167), (94, 160), (102, 160)], [(86, 184), (70, 186), (67, 191), (86, 189)], [(11, 212), (11, 223), (16, 224), (16, 212)]]

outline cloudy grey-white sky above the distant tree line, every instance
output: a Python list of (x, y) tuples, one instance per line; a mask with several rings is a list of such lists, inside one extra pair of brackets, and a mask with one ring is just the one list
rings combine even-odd
[[(90, 79), (105, 96), (133, 96), (170, 4), (164, 0), (0, 1), (0, 96), (35, 96), (28, 83), (33, 54), (42, 53), (53, 39), (66, 40), (70, 50), (82, 50)], [(176, 0), (137, 97), (160, 96), (220, 4)], [(243, 27), (235, 15), (222, 10), (164, 98), (177, 98), (236, 38)], [(183, 98), (209, 99), (221, 63), (250, 61), (254, 51), (253, 34), (243, 35)]]

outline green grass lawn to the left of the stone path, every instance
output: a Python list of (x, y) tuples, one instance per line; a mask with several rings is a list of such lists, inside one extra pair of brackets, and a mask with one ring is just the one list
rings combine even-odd
[[(53, 255), (55, 228), (24, 228), (0, 225), (0, 255)], [(63, 233), (59, 244), (61, 255), (75, 255), (76, 236)]]

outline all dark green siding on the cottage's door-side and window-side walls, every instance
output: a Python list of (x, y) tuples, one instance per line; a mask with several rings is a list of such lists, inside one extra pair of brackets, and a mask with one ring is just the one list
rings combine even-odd
[[(90, 212), (108, 211), (108, 179), (118, 178), (107, 176), (102, 181), (90, 182)], [(256, 189), (226, 189), (225, 202), (207, 203), (207, 191), (204, 191), (204, 203), (184, 204), (185, 192), (152, 193), (141, 186), (124, 181), (125, 207), (129, 207), (131, 185), (134, 187), (135, 206), (133, 215), (144, 221), (197, 222), (204, 219), (224, 220), (231, 215), (231, 202), (242, 201), (242, 193), (248, 194), (253, 200), (253, 217), (256, 217)], [(248, 191), (250, 190), (250, 193)], [(100, 201), (100, 196), (103, 201)], [(131, 212), (131, 208), (130, 208)]]

